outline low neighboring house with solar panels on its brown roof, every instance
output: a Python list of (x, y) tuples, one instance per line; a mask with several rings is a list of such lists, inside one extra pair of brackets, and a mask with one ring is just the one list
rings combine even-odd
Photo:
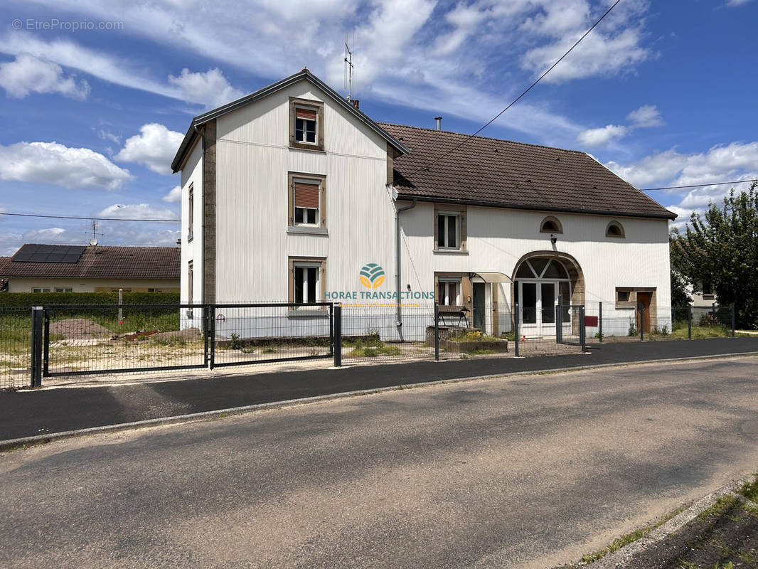
[(5, 265), (8, 292), (178, 292), (178, 247), (26, 244)]

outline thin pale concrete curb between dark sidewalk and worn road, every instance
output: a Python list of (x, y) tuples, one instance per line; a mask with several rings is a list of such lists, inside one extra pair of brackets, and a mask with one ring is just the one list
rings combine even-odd
[(692, 360), (714, 360), (722, 359), (725, 357), (745, 357), (745, 356), (758, 356), (758, 352), (744, 352), (736, 354), (719, 354), (715, 356), (694, 356), (694, 357), (675, 357), (667, 360), (641, 360), (631, 362), (618, 362), (618, 363), (600, 363), (590, 364), (587, 366), (574, 366), (574, 367), (562, 367), (562, 368), (550, 368), (550, 369), (537, 369), (528, 372), (513, 372), (513, 373), (494, 373), (486, 376), (473, 376), (456, 379), (439, 379), (434, 382), (421, 382), (411, 384), (399, 384), (390, 385), (387, 387), (371, 388), (371, 389), (359, 389), (356, 391), (342, 391), (340, 393), (332, 393), (327, 395), (316, 395), (314, 397), (299, 398), (299, 399), (287, 399), (284, 401), (271, 401), (269, 403), (258, 403), (253, 405), (245, 405), (243, 407), (228, 407), (226, 409), (218, 409), (211, 411), (201, 411), (199, 413), (188, 413), (186, 415), (175, 415), (173, 417), (158, 417), (156, 419), (147, 419), (143, 421), (133, 421), (130, 423), (117, 423), (114, 425), (104, 425), (89, 427), (88, 429), (76, 429), (73, 431), (61, 431), (51, 432), (47, 435), (33, 435), (29, 437), (21, 437), (20, 439), (8, 439), (0, 441), (0, 452), (13, 450), (15, 448), (23, 448), (33, 445), (43, 445), (48, 442), (58, 441), (61, 439), (72, 439), (74, 437), (83, 435), (96, 435), (107, 432), (125, 431), (130, 429), (143, 429), (151, 426), (162, 425), (174, 425), (177, 423), (196, 423), (199, 421), (207, 421), (213, 419), (219, 419), (222, 417), (228, 417), (230, 415), (240, 415), (243, 413), (251, 413), (258, 410), (268, 409), (281, 409), (285, 407), (295, 407), (298, 405), (305, 405), (310, 403), (318, 403), (321, 401), (331, 401), (334, 399), (357, 397), (359, 395), (371, 395), (374, 393), (383, 393), (384, 391), (401, 391), (406, 389), (422, 388), (431, 385), (446, 385), (450, 383), (462, 383), (472, 382), (481, 379), (503, 379), (519, 376), (539, 376), (554, 373), (576, 372), (587, 369), (603, 369), (611, 367), (622, 367), (630, 365), (641, 365), (646, 363), (666, 363), (666, 362), (678, 362), (678, 361), (692, 361)]

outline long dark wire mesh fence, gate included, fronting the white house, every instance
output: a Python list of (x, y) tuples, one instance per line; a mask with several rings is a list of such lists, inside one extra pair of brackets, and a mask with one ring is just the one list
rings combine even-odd
[(339, 365), (340, 360), (575, 354), (588, 342), (735, 335), (733, 306), (477, 303), (472, 308), (434, 303), (55, 305), (37, 311), (33, 325), (32, 310), (0, 307), (0, 388), (41, 385), (42, 376), (301, 360), (329, 365), (332, 357)]

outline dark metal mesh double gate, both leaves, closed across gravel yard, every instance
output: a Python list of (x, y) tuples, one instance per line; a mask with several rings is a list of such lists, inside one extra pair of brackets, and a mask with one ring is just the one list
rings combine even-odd
[(334, 357), (331, 303), (88, 304), (37, 312), (33, 353), (41, 377)]

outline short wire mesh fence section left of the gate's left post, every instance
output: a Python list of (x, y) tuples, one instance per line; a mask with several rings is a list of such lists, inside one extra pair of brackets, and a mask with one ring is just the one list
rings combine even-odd
[(0, 389), (29, 385), (31, 308), (0, 307)]

